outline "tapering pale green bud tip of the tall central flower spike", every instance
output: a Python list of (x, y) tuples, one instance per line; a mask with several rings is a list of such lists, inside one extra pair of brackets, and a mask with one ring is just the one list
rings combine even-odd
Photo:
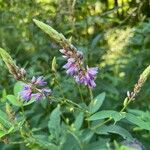
[(52, 39), (54, 39), (60, 46), (70, 49), (72, 51), (76, 51), (76, 48), (67, 40), (62, 33), (57, 32), (55, 29), (53, 29), (51, 26), (33, 19), (35, 24), (42, 29), (45, 33), (47, 33)]

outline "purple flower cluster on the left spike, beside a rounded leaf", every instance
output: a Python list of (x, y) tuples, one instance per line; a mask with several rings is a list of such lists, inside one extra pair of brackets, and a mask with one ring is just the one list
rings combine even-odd
[(30, 83), (24, 84), (24, 88), (20, 92), (20, 96), (25, 101), (29, 101), (31, 98), (40, 100), (41, 98), (51, 94), (51, 89), (43, 88), (45, 85), (47, 85), (47, 82), (44, 81), (43, 76), (37, 78), (33, 77)]

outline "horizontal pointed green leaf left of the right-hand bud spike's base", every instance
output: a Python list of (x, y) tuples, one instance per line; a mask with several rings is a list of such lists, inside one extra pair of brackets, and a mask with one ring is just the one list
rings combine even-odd
[(113, 110), (103, 110), (90, 116), (87, 120), (94, 121), (94, 120), (99, 120), (99, 119), (112, 118), (115, 120), (115, 122), (117, 122), (124, 117), (125, 115), (123, 113), (119, 113)]

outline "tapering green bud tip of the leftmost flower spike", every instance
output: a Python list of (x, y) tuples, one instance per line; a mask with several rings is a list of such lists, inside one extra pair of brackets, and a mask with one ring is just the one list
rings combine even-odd
[(16, 66), (15, 62), (11, 56), (2, 48), (0, 48), (0, 55), (5, 62), (9, 72), (16, 78), (19, 79), (19, 68)]

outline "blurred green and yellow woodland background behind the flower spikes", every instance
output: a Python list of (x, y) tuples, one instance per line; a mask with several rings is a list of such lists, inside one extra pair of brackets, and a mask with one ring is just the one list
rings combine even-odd
[[(150, 63), (149, 0), (0, 0), (0, 46), (8, 50), (28, 76), (44, 75), (54, 93), (51, 61), (57, 60), (58, 81), (68, 98), (79, 96), (75, 82), (62, 69), (60, 47), (33, 23), (41, 20), (63, 33), (84, 53), (89, 66), (98, 66), (94, 95), (105, 91), (105, 107), (120, 108), (140, 73)], [(15, 80), (0, 60), (0, 94)], [(130, 108), (150, 110), (150, 79)], [(67, 86), (66, 86), (67, 85)], [(83, 97), (87, 89), (81, 87)]]

